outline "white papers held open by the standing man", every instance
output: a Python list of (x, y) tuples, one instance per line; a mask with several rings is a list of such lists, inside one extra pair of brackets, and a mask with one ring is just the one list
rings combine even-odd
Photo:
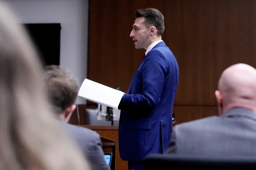
[(122, 91), (93, 82), (89, 79), (84, 79), (78, 92), (78, 96), (115, 109), (118, 109), (118, 105), (124, 94)]

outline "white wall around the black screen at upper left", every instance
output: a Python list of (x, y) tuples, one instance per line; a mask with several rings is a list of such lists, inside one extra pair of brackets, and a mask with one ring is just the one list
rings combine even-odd
[[(87, 78), (88, 0), (5, 0), (22, 23), (61, 23), (60, 65)], [(84, 104), (80, 97), (78, 104)]]

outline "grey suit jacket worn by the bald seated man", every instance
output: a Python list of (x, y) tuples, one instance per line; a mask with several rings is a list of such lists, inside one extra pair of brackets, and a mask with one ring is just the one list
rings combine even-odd
[(167, 153), (256, 156), (256, 115), (233, 108), (175, 126)]

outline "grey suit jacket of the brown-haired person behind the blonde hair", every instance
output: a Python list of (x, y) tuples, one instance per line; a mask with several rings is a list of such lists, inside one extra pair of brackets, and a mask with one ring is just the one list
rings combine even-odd
[(67, 123), (64, 124), (64, 127), (80, 146), (82, 152), (90, 162), (92, 170), (110, 170), (104, 159), (102, 143), (98, 133), (85, 127)]

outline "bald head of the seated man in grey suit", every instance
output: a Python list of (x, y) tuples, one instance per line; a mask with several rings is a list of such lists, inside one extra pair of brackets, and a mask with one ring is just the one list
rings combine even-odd
[(215, 96), (220, 113), (235, 107), (256, 113), (256, 69), (247, 64), (235, 64), (224, 70)]

